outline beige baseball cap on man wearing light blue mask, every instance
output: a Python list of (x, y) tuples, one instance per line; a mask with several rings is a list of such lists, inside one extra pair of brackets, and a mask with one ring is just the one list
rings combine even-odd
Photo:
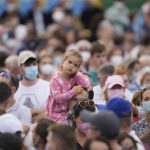
[(18, 56), (19, 65), (24, 64), (30, 58), (37, 59), (36, 55), (29, 50), (21, 52)]

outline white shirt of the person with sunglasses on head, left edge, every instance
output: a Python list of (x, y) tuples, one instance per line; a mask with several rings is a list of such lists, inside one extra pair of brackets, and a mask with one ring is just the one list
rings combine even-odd
[(31, 125), (31, 111), (22, 103), (15, 102), (8, 110), (8, 113), (16, 116), (23, 125), (26, 125), (30, 128)]

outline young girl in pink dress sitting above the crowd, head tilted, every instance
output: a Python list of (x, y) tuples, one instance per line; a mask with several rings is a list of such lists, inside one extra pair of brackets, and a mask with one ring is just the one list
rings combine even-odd
[(70, 99), (81, 93), (83, 88), (90, 87), (89, 80), (78, 72), (81, 63), (81, 55), (76, 50), (69, 50), (62, 60), (60, 73), (51, 78), (46, 109), (49, 117), (58, 123), (70, 124)]

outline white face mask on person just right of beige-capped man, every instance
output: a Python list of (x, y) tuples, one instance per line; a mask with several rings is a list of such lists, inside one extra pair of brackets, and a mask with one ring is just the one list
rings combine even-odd
[(50, 75), (54, 72), (54, 66), (51, 64), (44, 64), (40, 67), (43, 74)]

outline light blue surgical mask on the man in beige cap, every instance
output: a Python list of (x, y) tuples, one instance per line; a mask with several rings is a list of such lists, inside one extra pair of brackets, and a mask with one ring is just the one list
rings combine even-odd
[(28, 80), (35, 80), (37, 78), (37, 75), (38, 75), (38, 67), (37, 66), (25, 67), (24, 71), (25, 71), (25, 77)]

